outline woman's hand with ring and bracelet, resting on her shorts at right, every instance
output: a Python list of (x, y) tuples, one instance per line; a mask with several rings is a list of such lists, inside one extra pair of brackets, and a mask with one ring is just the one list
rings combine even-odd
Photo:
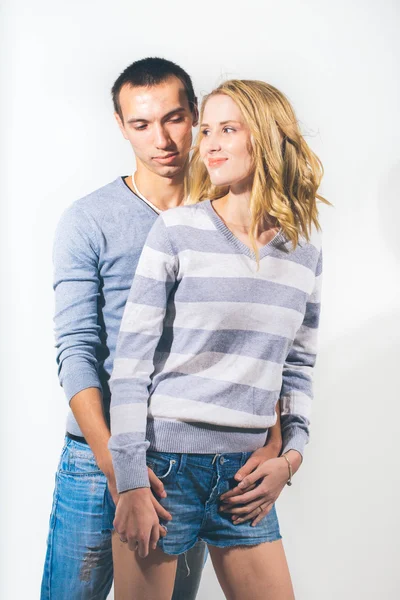
[[(286, 460), (283, 457), (265, 458), (266, 448), (256, 450), (236, 473), (235, 478), (241, 479), (238, 486), (221, 495), (220, 510), (231, 513), (235, 525), (250, 519), (254, 519), (252, 526), (257, 525), (269, 513), (289, 478)], [(295, 473), (301, 464), (301, 455), (296, 450), (289, 450), (286, 455)], [(243, 477), (242, 471), (250, 461), (255, 468), (253, 466), (252, 472)]]

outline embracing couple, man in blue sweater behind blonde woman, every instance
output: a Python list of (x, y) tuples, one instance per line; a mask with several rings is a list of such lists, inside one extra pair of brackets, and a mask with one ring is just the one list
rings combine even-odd
[(292, 599), (275, 501), (309, 438), (321, 163), (261, 81), (199, 111), (148, 58), (112, 95), (136, 171), (55, 239), (71, 412), (41, 598), (105, 599), (114, 576), (116, 600), (190, 600), (209, 553), (227, 598)]

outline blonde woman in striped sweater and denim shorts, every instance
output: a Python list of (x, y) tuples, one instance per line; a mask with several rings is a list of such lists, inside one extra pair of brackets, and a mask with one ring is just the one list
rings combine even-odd
[[(201, 538), (227, 598), (289, 600), (275, 501), (309, 436), (322, 167), (288, 100), (260, 81), (214, 90), (200, 128), (191, 205), (148, 236), (114, 363), (119, 598), (169, 600), (177, 556)], [(278, 402), (282, 454), (266, 459)], [(147, 465), (172, 515), (163, 537)]]

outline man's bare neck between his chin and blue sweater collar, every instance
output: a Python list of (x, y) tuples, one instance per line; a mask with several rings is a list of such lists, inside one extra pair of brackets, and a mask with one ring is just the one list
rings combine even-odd
[[(135, 193), (132, 176), (127, 177), (125, 181)], [(135, 184), (138, 192), (159, 210), (174, 208), (184, 201), (184, 174), (172, 178), (160, 177), (147, 169), (138, 168)]]

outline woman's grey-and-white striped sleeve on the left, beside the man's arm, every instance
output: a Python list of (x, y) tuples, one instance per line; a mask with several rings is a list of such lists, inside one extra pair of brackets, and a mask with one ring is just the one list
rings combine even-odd
[(149, 487), (147, 405), (154, 353), (177, 272), (162, 217), (147, 237), (125, 306), (111, 377), (111, 438), (118, 492)]

